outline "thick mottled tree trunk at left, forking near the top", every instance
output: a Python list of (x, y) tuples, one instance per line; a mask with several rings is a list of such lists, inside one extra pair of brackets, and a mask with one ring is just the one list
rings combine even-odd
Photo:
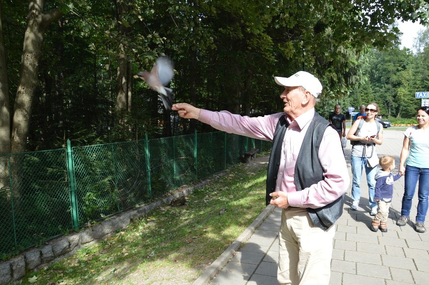
[(11, 134), (12, 153), (21, 153), (26, 150), (32, 104), (38, 86), (44, 32), (48, 24), (63, 15), (59, 9), (45, 14), (43, 6), (44, 0), (29, 1), (20, 80), (14, 105)]

